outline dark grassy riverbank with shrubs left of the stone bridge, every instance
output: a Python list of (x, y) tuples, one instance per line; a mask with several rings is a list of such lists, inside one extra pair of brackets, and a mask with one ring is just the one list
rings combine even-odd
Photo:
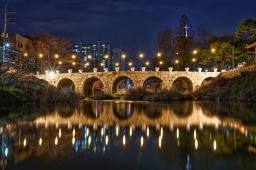
[(19, 81), (0, 87), (0, 108), (12, 108), (20, 104), (77, 104), (79, 96), (67, 88), (58, 89), (46, 81), (31, 76), (27, 81)]

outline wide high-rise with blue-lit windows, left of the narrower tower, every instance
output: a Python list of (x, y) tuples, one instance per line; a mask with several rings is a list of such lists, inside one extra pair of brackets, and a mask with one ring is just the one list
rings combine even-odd
[(109, 43), (101, 43), (99, 40), (95, 44), (84, 44), (80, 41), (79, 44), (72, 45), (72, 50), (84, 60), (84, 68), (88, 67), (105, 67), (110, 69), (111, 53)]

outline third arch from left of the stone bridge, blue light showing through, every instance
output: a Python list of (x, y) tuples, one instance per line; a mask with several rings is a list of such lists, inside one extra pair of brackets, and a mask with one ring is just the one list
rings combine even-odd
[[(125, 81), (126, 85), (125, 85)], [(127, 92), (127, 90), (131, 90), (136, 87), (136, 80), (127, 74), (122, 74), (120, 76), (115, 76), (115, 78), (112, 79), (112, 93), (115, 94), (118, 91), (124, 91)], [(122, 83), (124, 83), (124, 87), (122, 87)]]

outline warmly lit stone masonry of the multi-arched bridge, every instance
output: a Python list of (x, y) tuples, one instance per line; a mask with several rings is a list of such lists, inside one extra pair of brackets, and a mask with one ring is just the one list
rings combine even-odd
[(177, 80), (184, 81), (188, 92), (193, 92), (202, 85), (204, 80), (214, 79), (219, 72), (195, 72), (195, 71), (107, 71), (95, 73), (61, 73), (38, 74), (36, 78), (47, 81), (55, 87), (61, 87), (61, 81), (68, 80), (69, 86), (79, 94), (85, 95), (85, 91), (92, 91), (96, 81), (101, 81), (104, 94), (113, 94), (115, 86), (123, 80), (130, 79), (134, 88), (142, 88), (148, 80), (155, 79), (161, 83), (161, 89), (173, 89), (173, 83)]

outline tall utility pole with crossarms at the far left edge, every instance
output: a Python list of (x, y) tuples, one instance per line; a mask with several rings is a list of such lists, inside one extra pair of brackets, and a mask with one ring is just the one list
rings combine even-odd
[(14, 24), (9, 22), (10, 20), (15, 19), (15, 17), (11, 17), (10, 14), (16, 13), (16, 11), (7, 11), (7, 6), (8, 4), (5, 5), (5, 9), (4, 9), (4, 32), (2, 32), (1, 34), (1, 37), (3, 38), (3, 63), (5, 60), (5, 47), (6, 47), (5, 41), (8, 38), (8, 33), (6, 32), (6, 26), (8, 24)]

